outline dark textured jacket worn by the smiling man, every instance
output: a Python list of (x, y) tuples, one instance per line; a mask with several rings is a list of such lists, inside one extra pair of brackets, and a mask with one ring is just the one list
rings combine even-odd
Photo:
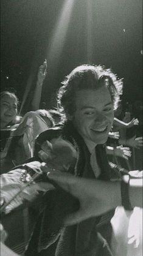
[[(75, 176), (95, 178), (90, 165), (90, 153), (83, 140), (67, 122), (64, 126), (53, 127), (41, 133), (35, 142), (35, 158), (38, 159), (40, 145), (45, 140), (61, 137), (70, 141), (77, 150), (77, 162), (69, 171)], [(110, 167), (106, 157), (105, 145), (96, 146), (97, 163), (101, 174), (99, 179), (110, 179)], [(86, 188), (85, 188), (86, 189)], [(78, 225), (64, 227), (64, 217), (78, 209), (78, 201), (57, 188), (44, 196), (43, 211), (38, 218), (30, 238), (27, 256), (108, 256), (110, 249), (106, 249), (105, 240), (97, 233), (96, 225), (100, 217), (92, 217)]]

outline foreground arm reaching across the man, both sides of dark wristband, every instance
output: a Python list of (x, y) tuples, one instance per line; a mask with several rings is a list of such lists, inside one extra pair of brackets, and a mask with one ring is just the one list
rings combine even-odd
[[(99, 216), (122, 205), (120, 181), (77, 178), (60, 171), (51, 171), (47, 173), (47, 177), (80, 201), (80, 209), (66, 218), (67, 225)], [(132, 206), (142, 208), (142, 179), (130, 179), (129, 196)]]

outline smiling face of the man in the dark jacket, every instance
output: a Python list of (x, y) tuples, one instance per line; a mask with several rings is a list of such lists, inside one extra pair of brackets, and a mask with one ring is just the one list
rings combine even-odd
[(95, 90), (76, 92), (75, 107), (72, 122), (78, 133), (96, 144), (105, 143), (114, 119), (113, 102), (108, 89), (102, 86)]

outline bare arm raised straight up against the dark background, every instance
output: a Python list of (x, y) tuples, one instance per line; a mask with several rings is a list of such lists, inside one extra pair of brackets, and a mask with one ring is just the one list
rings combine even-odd
[(45, 60), (43, 65), (41, 65), (38, 70), (37, 84), (35, 87), (33, 100), (32, 100), (33, 111), (38, 110), (40, 108), (41, 92), (43, 87), (43, 81), (46, 75), (47, 75), (47, 61)]

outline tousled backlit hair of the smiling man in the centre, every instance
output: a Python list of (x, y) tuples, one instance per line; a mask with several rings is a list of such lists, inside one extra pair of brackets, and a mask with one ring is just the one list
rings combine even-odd
[(123, 86), (122, 79), (117, 78), (111, 69), (88, 64), (76, 67), (61, 84), (57, 93), (57, 107), (65, 119), (66, 113), (72, 115), (75, 111), (75, 92), (106, 86), (110, 91), (114, 110), (116, 110)]

